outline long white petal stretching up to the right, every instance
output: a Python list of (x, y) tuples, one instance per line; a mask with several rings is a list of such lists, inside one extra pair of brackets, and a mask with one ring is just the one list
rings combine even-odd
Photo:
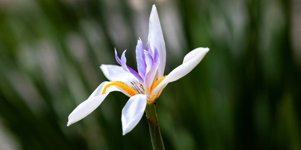
[(176, 67), (174, 70), (172, 70), (160, 84), (157, 85), (156, 88), (153, 90), (153, 94), (158, 93), (161, 88), (166, 85), (169, 82), (173, 82), (175, 80), (178, 80), (185, 76), (187, 73), (189, 73), (194, 67), (197, 66), (197, 64), (200, 63), (200, 61), (204, 58), (206, 53), (209, 51), (209, 48), (196, 48), (189, 52), (185, 57), (183, 64)]

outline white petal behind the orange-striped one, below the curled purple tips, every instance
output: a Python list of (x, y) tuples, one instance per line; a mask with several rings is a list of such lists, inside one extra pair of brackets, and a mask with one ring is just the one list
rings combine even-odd
[(112, 64), (102, 64), (100, 66), (104, 76), (110, 81), (120, 81), (130, 85), (131, 81), (138, 81), (132, 73), (126, 72), (122, 67)]

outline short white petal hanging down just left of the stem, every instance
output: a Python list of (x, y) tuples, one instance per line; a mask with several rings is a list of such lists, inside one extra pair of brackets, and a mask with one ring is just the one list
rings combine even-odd
[(122, 135), (129, 133), (141, 120), (145, 107), (147, 95), (138, 94), (132, 96), (122, 109)]

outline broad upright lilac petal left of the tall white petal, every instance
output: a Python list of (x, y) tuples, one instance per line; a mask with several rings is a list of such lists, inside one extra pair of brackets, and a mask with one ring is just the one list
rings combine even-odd
[(145, 62), (145, 55), (144, 55), (144, 46), (140, 38), (136, 46), (136, 60), (137, 60), (138, 73), (142, 78), (144, 78), (146, 73), (146, 62)]

